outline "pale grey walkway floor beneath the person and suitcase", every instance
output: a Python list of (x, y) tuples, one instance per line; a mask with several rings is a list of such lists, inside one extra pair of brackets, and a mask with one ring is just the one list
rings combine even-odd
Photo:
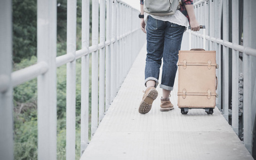
[(139, 114), (145, 59), (146, 44), (81, 159), (253, 159), (217, 107), (213, 115), (204, 109), (180, 113), (177, 82), (171, 93), (174, 110), (159, 111), (158, 86), (150, 112)]

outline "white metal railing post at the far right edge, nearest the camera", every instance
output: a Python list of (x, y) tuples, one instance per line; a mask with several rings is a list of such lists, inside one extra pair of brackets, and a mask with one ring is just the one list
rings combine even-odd
[[(256, 49), (255, 37), (255, 9), (256, 1), (244, 1), (244, 17), (243, 17), (243, 46), (252, 47)], [(245, 49), (246, 51), (246, 49)], [(255, 56), (255, 54), (254, 54)], [(256, 57), (243, 54), (243, 74), (244, 74), (244, 97), (243, 97), (243, 117), (244, 117), (244, 144), (245, 147), (252, 154), (252, 138), (253, 138), (253, 123), (255, 116), (255, 109), (252, 109), (253, 86), (255, 85), (255, 62)], [(255, 89), (255, 88), (254, 88)]]

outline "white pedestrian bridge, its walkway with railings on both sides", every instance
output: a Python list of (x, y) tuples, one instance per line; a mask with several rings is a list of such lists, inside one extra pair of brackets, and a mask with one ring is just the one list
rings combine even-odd
[[(37, 63), (12, 72), (12, 4), (0, 1), (1, 159), (14, 158), (13, 87), (33, 78), (37, 78), (38, 159), (57, 159), (56, 72), (62, 65), (67, 65), (66, 159), (75, 159), (77, 59), (82, 59), (81, 159), (255, 158), (256, 1), (194, 2), (197, 20), (206, 26), (206, 50), (217, 52), (219, 98), (212, 115), (203, 109), (180, 113), (178, 76), (171, 92), (174, 110), (159, 111), (158, 87), (150, 112), (138, 113), (145, 90), (146, 34), (140, 30), (139, 11), (130, 5), (93, 0), (90, 26), (90, 0), (83, 0), (82, 49), (76, 50), (77, 4), (68, 0), (67, 54), (56, 57), (57, 1), (38, 0)], [(181, 50), (188, 50), (188, 39), (186, 31)], [(203, 31), (193, 33), (191, 41), (193, 48), (202, 48)]]

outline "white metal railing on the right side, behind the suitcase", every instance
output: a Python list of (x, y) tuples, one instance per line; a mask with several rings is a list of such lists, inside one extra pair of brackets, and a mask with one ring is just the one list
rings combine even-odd
[[(231, 4), (229, 4), (231, 2)], [(239, 3), (242, 2), (242, 5)], [(256, 113), (256, 10), (252, 6), (256, 1), (227, 1), (227, 0), (201, 0), (194, 3), (197, 20), (206, 26), (206, 50), (215, 50), (217, 53), (217, 69), (219, 98), (217, 107), (222, 109), (223, 116), (229, 121), (238, 135), (238, 128), (242, 127), (245, 147), (252, 154), (253, 124)], [(230, 11), (231, 9), (231, 11)], [(243, 24), (239, 24), (239, 10), (243, 14)], [(230, 21), (231, 20), (231, 21)], [(243, 45), (239, 45), (239, 25), (243, 27)], [(229, 30), (231, 29), (231, 30)], [(241, 30), (240, 30), (241, 31)], [(183, 49), (188, 49), (188, 32), (183, 37)], [(202, 31), (193, 33), (193, 47), (203, 45)], [(222, 37), (222, 39), (221, 39)], [(232, 51), (229, 51), (231, 49)], [(239, 52), (243, 53), (239, 60)], [(230, 53), (230, 54), (229, 54)], [(243, 73), (243, 93), (239, 93), (239, 75)], [(230, 77), (232, 81), (230, 81)], [(231, 92), (231, 95), (229, 93)], [(243, 99), (239, 99), (243, 94)], [(231, 98), (230, 98), (231, 97)], [(231, 102), (230, 102), (231, 101)], [(243, 101), (243, 106), (239, 103)], [(229, 105), (231, 103), (231, 109)], [(238, 110), (242, 109), (243, 123), (238, 126)], [(231, 116), (229, 113), (231, 110)]]

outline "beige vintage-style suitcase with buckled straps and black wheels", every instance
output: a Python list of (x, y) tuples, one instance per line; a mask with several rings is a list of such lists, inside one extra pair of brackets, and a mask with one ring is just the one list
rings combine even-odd
[(215, 51), (179, 51), (178, 106), (182, 114), (193, 108), (213, 113), (217, 97), (216, 68)]

